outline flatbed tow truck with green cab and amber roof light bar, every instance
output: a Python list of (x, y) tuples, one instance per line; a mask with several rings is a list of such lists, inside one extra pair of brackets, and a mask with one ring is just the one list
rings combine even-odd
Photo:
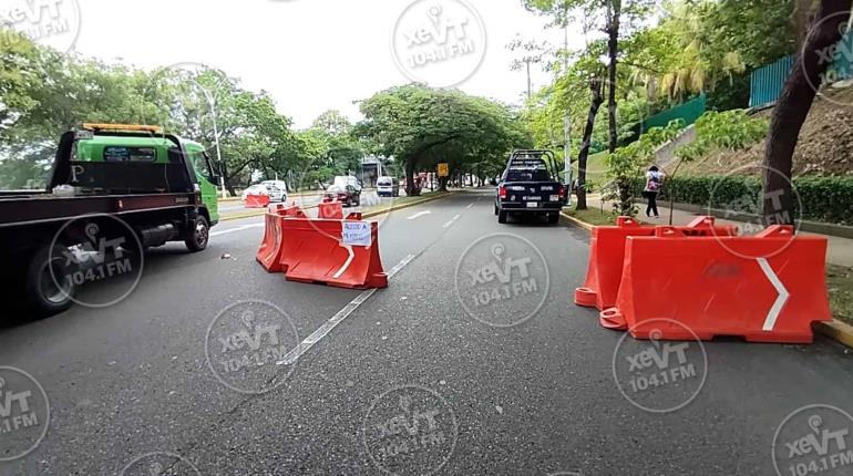
[(204, 250), (219, 219), (214, 170), (201, 144), (156, 126), (66, 132), (43, 189), (0, 192), (4, 302), (27, 318), (55, 314), (83, 303), (75, 294), (84, 284), (126, 275), (138, 282), (147, 248)]

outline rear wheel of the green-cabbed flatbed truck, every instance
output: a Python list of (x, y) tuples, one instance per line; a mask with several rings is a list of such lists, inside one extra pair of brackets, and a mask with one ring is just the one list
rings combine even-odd
[[(39, 318), (58, 314), (73, 304), (75, 286), (63, 280), (66, 248), (44, 245), (35, 251), (27, 268), (25, 293), (30, 310)], [(51, 268), (53, 271), (51, 271)]]

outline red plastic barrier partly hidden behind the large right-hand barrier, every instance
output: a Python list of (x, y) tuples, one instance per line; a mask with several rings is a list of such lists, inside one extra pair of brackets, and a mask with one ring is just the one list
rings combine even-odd
[[(734, 236), (737, 227), (716, 226), (713, 217), (697, 217), (686, 227), (676, 227), (688, 236)], [(603, 311), (616, 302), (621, 281), (625, 240), (631, 236), (652, 236), (654, 226), (640, 226), (631, 217), (619, 217), (615, 227), (595, 227), (589, 242), (586, 280), (575, 289), (575, 304)]]

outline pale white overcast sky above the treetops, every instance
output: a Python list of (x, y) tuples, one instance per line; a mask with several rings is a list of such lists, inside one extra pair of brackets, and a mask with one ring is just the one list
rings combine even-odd
[[(220, 69), (267, 91), (298, 128), (327, 110), (358, 120), (358, 100), (413, 79), (518, 104), (526, 75), (511, 64), (523, 53), (507, 44), (563, 42), (521, 0), (34, 1), (66, 11), (76, 1), (78, 53), (148, 70)], [(583, 41), (572, 32), (572, 45)], [(534, 89), (551, 81), (537, 65), (532, 73)]]

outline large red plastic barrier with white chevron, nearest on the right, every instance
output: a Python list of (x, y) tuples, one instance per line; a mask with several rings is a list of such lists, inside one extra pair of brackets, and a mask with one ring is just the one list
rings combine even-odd
[(602, 321), (624, 322), (637, 339), (810, 343), (812, 322), (832, 320), (825, 238), (781, 226), (754, 237), (685, 236), (660, 227), (655, 237), (627, 238), (616, 307)]

